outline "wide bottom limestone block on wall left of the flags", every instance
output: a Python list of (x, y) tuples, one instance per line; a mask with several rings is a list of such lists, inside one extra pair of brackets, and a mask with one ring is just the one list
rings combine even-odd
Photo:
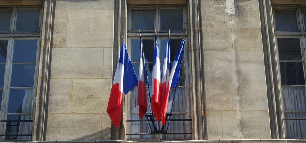
[(46, 140), (100, 140), (101, 118), (101, 114), (49, 114)]

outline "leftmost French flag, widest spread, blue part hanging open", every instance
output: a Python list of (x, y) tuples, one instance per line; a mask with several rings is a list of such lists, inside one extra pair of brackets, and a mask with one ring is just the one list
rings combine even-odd
[(114, 123), (115, 127), (120, 125), (122, 95), (127, 94), (135, 86), (137, 86), (137, 76), (129, 58), (128, 51), (126, 50), (124, 41), (122, 41), (119, 62), (106, 109), (106, 112), (110, 116), (110, 119)]

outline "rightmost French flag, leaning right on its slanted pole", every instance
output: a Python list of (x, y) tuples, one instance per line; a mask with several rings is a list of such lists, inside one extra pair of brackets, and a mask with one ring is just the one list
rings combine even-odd
[[(186, 38), (186, 37), (185, 37)], [(165, 96), (165, 102), (163, 102), (162, 105), (162, 113), (166, 114), (168, 109), (168, 98), (170, 93), (170, 88), (175, 88), (179, 86), (180, 82), (180, 73), (181, 73), (181, 64), (182, 64), (182, 56), (184, 51), (184, 45), (185, 45), (185, 38), (182, 40), (181, 46), (179, 50), (177, 51), (174, 61), (172, 63), (172, 69), (169, 77), (169, 83), (167, 87), (167, 92)], [(163, 120), (162, 125), (166, 123), (166, 120)]]

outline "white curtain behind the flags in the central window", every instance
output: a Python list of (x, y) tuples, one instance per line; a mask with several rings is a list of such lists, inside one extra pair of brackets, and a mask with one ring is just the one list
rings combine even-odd
[[(151, 88), (150, 88), (151, 91)], [(147, 90), (148, 93), (148, 90)], [(176, 95), (175, 95), (176, 93)], [(173, 97), (175, 95), (175, 98), (173, 100)], [(148, 96), (147, 96), (148, 98)], [(149, 99), (147, 100), (148, 104), (148, 111), (147, 114), (151, 115), (151, 110), (150, 110), (150, 104), (149, 104)], [(131, 120), (147, 120), (146, 117), (143, 117), (142, 119), (139, 118), (138, 116), (138, 90), (137, 88), (133, 88), (131, 90)], [(184, 88), (172, 88), (170, 90), (170, 95), (169, 95), (169, 100), (168, 100), (168, 110), (167, 113), (170, 113), (171, 110), (171, 105), (172, 102), (174, 102), (174, 106), (172, 109), (173, 116), (171, 117), (172, 119), (186, 119), (186, 99), (185, 99), (185, 89)], [(158, 128), (158, 123), (155, 123)], [(150, 123), (152, 130), (153, 125)], [(165, 130), (168, 125), (168, 122), (165, 124)], [(147, 121), (139, 121), (139, 122), (131, 122), (130, 126), (130, 133), (131, 134), (139, 134), (139, 133), (150, 133), (150, 127)], [(160, 122), (160, 128), (161, 128), (161, 122)], [(170, 121), (168, 133), (186, 133), (187, 128), (186, 128), (186, 121)], [(154, 135), (131, 135), (131, 139), (154, 139)], [(187, 138), (187, 135), (184, 134), (179, 134), (179, 135), (172, 135), (172, 134), (167, 134), (166, 136), (162, 136), (164, 139), (184, 139)]]

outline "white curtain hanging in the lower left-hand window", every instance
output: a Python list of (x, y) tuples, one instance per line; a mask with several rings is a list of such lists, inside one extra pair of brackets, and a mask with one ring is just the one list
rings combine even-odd
[[(32, 113), (33, 89), (24, 89), (21, 113)], [(20, 120), (31, 120), (31, 115), (21, 115)], [(31, 122), (20, 122), (18, 134), (31, 134)], [(18, 140), (27, 140), (29, 136), (18, 136)]]

